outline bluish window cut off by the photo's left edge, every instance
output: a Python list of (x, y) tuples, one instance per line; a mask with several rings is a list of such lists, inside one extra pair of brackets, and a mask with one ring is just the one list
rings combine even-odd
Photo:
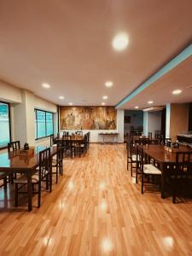
[(9, 103), (0, 102), (0, 148), (10, 142)]

